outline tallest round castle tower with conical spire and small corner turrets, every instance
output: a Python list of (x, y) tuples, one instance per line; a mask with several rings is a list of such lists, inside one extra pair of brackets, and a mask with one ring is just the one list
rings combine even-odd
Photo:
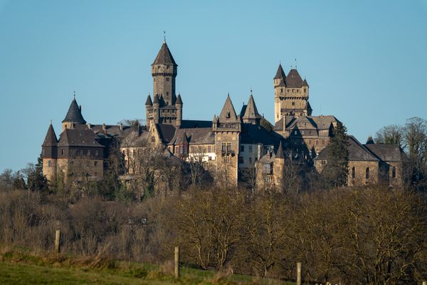
[(164, 41), (152, 63), (153, 100), (148, 95), (145, 103), (147, 126), (151, 122), (171, 124), (177, 128), (181, 125), (182, 100), (181, 95), (176, 97), (175, 91), (177, 69), (178, 65)]

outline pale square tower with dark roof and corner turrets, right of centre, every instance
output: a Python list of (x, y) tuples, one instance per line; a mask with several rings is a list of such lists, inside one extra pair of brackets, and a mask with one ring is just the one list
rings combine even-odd
[(302, 117), (312, 114), (308, 103), (308, 83), (302, 80), (300, 73), (294, 68), (285, 76), (282, 65), (273, 78), (274, 86), (274, 121), (285, 116)]

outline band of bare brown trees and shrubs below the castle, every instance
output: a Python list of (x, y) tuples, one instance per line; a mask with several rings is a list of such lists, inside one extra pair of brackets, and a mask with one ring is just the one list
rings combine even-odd
[(426, 197), (380, 187), (301, 195), (188, 190), (143, 202), (44, 202), (0, 193), (0, 243), (52, 250), (55, 229), (73, 254), (162, 263), (181, 247), (186, 266), (307, 281), (419, 284), (427, 275)]

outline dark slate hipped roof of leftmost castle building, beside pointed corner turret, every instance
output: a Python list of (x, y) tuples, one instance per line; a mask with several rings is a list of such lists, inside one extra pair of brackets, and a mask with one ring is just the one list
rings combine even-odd
[(93, 130), (65, 129), (60, 135), (58, 146), (60, 147), (104, 147), (97, 142), (97, 136)]

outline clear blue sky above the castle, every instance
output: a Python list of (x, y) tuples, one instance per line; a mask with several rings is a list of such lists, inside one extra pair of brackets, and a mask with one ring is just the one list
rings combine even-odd
[(35, 162), (73, 90), (90, 123), (144, 118), (163, 31), (184, 118), (211, 120), (251, 87), (273, 121), (281, 61), (310, 85), (313, 115), (364, 142), (427, 118), (427, 1), (0, 0), (0, 171)]

